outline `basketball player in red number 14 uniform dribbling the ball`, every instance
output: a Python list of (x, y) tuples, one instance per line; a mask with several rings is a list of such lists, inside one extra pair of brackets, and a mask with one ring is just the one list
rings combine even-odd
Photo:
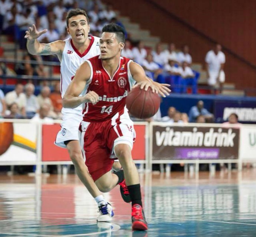
[[(125, 98), (135, 82), (142, 89), (151, 87), (160, 94), (168, 94), (170, 90), (147, 79), (137, 63), (121, 57), (125, 40), (121, 27), (111, 23), (102, 32), (101, 55), (86, 60), (76, 71), (63, 97), (63, 106), (73, 108), (84, 104), (79, 130), (89, 173), (102, 192), (110, 191), (125, 177), (132, 202), (132, 229), (147, 230), (140, 180), (131, 156), (135, 131)], [(115, 157), (121, 163), (124, 177), (111, 173)]]

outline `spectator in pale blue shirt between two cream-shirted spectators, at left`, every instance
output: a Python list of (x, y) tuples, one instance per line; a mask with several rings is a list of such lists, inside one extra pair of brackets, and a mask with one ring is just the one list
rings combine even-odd
[(26, 117), (31, 119), (39, 110), (39, 104), (34, 95), (35, 86), (32, 83), (27, 83), (25, 86), (26, 94)]

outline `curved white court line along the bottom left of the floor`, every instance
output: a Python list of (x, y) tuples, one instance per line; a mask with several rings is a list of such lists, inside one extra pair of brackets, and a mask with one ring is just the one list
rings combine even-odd
[(112, 232), (112, 231), (117, 231), (119, 230), (121, 227), (116, 225), (116, 224), (111, 224), (111, 228), (110, 230), (105, 230), (105, 231), (98, 231), (98, 232), (92, 232), (92, 233), (87, 233), (87, 234), (65, 234), (65, 235), (58, 235), (58, 236), (52, 236), (52, 235), (47, 235), (47, 234), (25, 234), (25, 233), (4, 233), (4, 232), (0, 232), (0, 234), (7, 234), (9, 236), (34, 236), (34, 237), (76, 237), (76, 236), (94, 236), (94, 235), (98, 235), (98, 234), (103, 234), (103, 233), (108, 233), (108, 232)]

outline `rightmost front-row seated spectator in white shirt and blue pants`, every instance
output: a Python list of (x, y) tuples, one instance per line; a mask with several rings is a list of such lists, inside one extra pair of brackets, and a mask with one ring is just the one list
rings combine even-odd
[(188, 66), (188, 63), (186, 61), (182, 62), (180, 67), (181, 72), (181, 85), (182, 85), (182, 92), (187, 93), (187, 86), (192, 86), (192, 93), (197, 93), (197, 79), (191, 69), (191, 67)]

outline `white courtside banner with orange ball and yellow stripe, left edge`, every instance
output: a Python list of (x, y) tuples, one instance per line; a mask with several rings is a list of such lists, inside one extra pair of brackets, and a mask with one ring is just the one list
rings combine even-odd
[(36, 162), (36, 124), (0, 123), (0, 162)]

